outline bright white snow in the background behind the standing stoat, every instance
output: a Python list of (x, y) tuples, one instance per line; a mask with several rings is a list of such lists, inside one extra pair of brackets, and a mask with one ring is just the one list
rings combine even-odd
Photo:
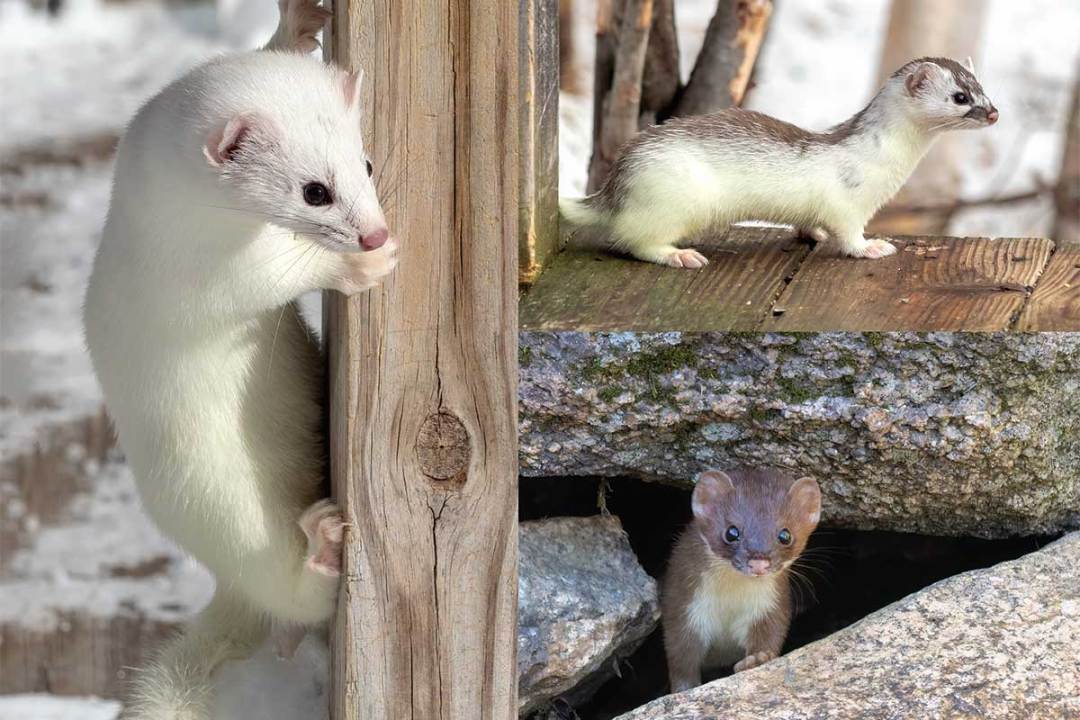
[[(961, 135), (966, 198), (1029, 190), (1032, 177), (1056, 180), (1071, 83), (1080, 59), (1076, 28), (1080, 3), (1071, 0), (987, 0), (981, 79), (1001, 110), (994, 127)], [(812, 130), (834, 125), (865, 106), (877, 90), (888, 0), (783, 0), (775, 3), (746, 106)], [(703, 41), (716, 3), (675, 0), (684, 78)], [(575, 67), (579, 86), (592, 87), (595, 3), (577, 0)], [(592, 104), (562, 94), (559, 190), (584, 190), (591, 152)], [(971, 209), (949, 228), (956, 235), (1045, 235), (1049, 200), (1022, 206)]]

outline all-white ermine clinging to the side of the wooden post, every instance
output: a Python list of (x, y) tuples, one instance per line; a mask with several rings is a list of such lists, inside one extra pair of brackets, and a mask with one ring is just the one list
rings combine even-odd
[(126, 718), (208, 720), (224, 660), (324, 623), (336, 601), (323, 365), (294, 301), (374, 286), (395, 245), (360, 79), (302, 54), (328, 13), (281, 10), (266, 49), (195, 68), (135, 116), (86, 291), (86, 342), (144, 506), (217, 580), (139, 671)]

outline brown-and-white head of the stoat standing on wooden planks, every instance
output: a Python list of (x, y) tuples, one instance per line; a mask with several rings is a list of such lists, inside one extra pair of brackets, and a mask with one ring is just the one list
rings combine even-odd
[(912, 60), (893, 73), (891, 84), (907, 99), (910, 114), (929, 130), (986, 127), (998, 109), (986, 96), (968, 58), (967, 67), (945, 57)]

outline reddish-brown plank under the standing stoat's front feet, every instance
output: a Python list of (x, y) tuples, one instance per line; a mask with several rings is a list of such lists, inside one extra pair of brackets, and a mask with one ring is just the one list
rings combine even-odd
[(1007, 330), (1054, 244), (1039, 239), (890, 239), (900, 250), (852, 261), (814, 249), (765, 323), (770, 330)]

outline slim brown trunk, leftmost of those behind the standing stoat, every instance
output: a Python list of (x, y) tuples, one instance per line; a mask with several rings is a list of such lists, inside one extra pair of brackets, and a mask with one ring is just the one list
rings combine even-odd
[(619, 148), (637, 134), (652, 0), (621, 0), (618, 11), (611, 0), (600, 0), (596, 15), (593, 157), (588, 192), (599, 189)]

